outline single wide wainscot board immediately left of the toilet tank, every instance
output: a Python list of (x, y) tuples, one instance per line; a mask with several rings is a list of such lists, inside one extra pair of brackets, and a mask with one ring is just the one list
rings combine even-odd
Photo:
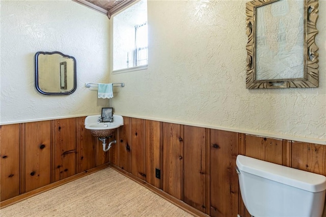
[(238, 133), (211, 130), (211, 216), (236, 216), (239, 213), (239, 184), (234, 169), (238, 147)]

